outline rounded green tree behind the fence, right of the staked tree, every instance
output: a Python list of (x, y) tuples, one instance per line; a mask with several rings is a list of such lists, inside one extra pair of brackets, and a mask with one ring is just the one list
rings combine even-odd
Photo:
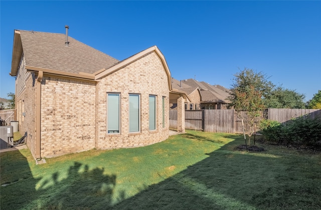
[(304, 109), (304, 94), (279, 86), (264, 98), (266, 108)]

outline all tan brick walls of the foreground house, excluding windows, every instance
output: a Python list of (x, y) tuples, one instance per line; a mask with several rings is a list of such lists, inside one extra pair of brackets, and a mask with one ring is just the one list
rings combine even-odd
[[(27, 144), (36, 154), (37, 75), (21, 71), (24, 90), (16, 96), (20, 132), (28, 131)], [(92, 149), (136, 147), (169, 136), (169, 84), (161, 59), (151, 52), (141, 59), (90, 82), (44, 75), (41, 83), (41, 156), (53, 157)], [(23, 86), (20, 86), (23, 87)], [(107, 92), (121, 95), (120, 134), (107, 134)], [(140, 132), (129, 133), (128, 96), (140, 94)], [(149, 131), (149, 95), (156, 95), (156, 130)], [(163, 127), (163, 97), (165, 125)], [(25, 112), (26, 115), (22, 116)]]

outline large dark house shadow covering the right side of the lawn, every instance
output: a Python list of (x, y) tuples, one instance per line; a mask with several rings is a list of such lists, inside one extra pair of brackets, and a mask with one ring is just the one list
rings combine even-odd
[[(186, 138), (209, 138), (182, 134)], [(209, 157), (186, 170), (150, 185), (147, 189), (113, 206), (113, 209), (319, 209), (316, 194), (320, 169), (302, 183), (302, 171), (290, 159), (265, 153), (233, 151), (242, 142), (239, 136)], [(304, 164), (304, 163), (303, 163)], [(313, 195), (314, 194), (314, 195)], [(311, 196), (313, 195), (313, 196)]]

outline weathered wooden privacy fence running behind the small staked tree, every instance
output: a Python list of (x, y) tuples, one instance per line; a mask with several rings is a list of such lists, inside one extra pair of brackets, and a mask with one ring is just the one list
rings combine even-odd
[[(300, 116), (321, 119), (321, 109), (267, 109), (263, 113), (265, 119), (281, 123)], [(170, 128), (177, 129), (177, 110), (170, 110)], [(243, 133), (241, 119), (234, 109), (185, 110), (185, 128), (207, 132)]]

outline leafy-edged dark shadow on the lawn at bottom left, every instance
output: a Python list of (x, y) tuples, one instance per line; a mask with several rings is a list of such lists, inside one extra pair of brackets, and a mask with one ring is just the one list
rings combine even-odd
[[(4, 177), (8, 181), (2, 177), (2, 183), (7, 183), (1, 187), (1, 209), (100, 209), (111, 206), (116, 175), (104, 174), (104, 168), (89, 170), (88, 165), (74, 162), (65, 178), (60, 172), (54, 172), (51, 177), (35, 179), (25, 156), (14, 152), (2, 154), (2, 160), (6, 161), (2, 161), (1, 171), (15, 176), (15, 170), (23, 170), (24, 176)], [(10, 165), (11, 157), (16, 163), (19, 159), (19, 165)]]

